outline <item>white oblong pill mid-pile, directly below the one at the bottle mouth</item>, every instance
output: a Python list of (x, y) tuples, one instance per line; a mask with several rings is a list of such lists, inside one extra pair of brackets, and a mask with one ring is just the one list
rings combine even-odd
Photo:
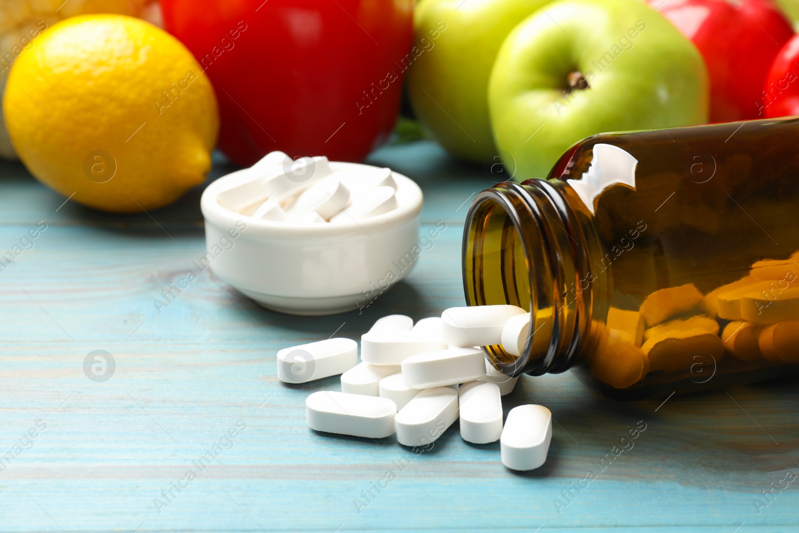
[(402, 375), (410, 388), (444, 387), (486, 375), (482, 348), (447, 348), (403, 360)]

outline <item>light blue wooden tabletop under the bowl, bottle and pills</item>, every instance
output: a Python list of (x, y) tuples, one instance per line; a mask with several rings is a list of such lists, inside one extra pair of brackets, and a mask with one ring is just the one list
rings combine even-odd
[[(463, 304), (463, 219), (502, 179), (428, 142), (369, 161), (417, 180), (423, 226), (447, 229), (363, 314), (325, 318), (265, 311), (209, 274), (158, 314), (153, 299), (205, 250), (201, 188), (153, 218), (112, 217), (0, 163), (0, 254), (47, 225), (0, 272), (0, 531), (799, 531), (796, 380), (619, 404), (568, 372), (523, 376), (506, 412), (536, 400), (555, 418), (549, 459), (527, 475), (457, 425), (419, 456), (308, 430), (305, 397), (338, 378), (281, 384), (275, 352)], [(105, 382), (84, 372), (93, 350), (113, 354)], [(605, 459), (639, 421), (634, 447)]]

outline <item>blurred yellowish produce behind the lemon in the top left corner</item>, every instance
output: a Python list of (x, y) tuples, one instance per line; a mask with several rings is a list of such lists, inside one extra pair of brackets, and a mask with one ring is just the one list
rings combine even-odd
[[(161, 9), (155, 0), (0, 0), (0, 98), (11, 65), (56, 22), (80, 14), (117, 13), (161, 24)], [(0, 157), (14, 159), (0, 110)]]

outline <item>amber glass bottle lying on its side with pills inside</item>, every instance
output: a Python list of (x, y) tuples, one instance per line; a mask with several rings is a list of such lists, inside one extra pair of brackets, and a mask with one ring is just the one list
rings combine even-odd
[(799, 372), (797, 145), (799, 119), (604, 133), (479, 193), (467, 302), (533, 316), (495, 366), (630, 400)]

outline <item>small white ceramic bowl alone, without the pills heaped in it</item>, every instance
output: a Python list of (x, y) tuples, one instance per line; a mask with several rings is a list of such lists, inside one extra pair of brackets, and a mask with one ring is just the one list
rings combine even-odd
[[(375, 169), (336, 161), (330, 167)], [(415, 265), (422, 191), (410, 178), (392, 173), (398, 209), (357, 224), (294, 225), (220, 205), (218, 193), (243, 172), (217, 179), (202, 195), (206, 259), (215, 275), (265, 308), (308, 316), (352, 311), (370, 304)]]

